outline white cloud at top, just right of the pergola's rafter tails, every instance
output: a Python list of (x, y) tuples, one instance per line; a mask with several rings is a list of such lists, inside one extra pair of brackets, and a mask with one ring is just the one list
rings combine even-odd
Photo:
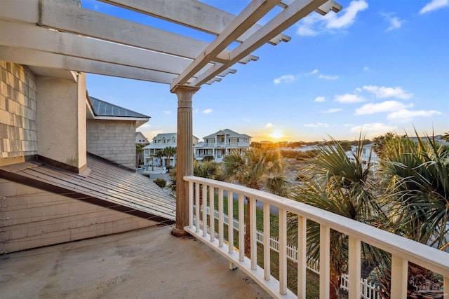
[(333, 12), (326, 15), (310, 14), (298, 23), (296, 33), (301, 36), (316, 36), (328, 30), (347, 28), (354, 24), (357, 13), (366, 8), (368, 3), (365, 0), (355, 0), (338, 14)]

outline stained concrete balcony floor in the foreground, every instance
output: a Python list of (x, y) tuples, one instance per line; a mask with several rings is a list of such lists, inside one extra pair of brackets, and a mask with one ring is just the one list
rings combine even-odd
[(0, 256), (1, 298), (271, 298), (206, 244), (154, 226)]

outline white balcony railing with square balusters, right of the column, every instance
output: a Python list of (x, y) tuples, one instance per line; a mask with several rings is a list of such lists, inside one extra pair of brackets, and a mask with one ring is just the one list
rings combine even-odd
[[(407, 298), (408, 262), (421, 265), (443, 276), (445, 286), (444, 299), (449, 299), (449, 258), (448, 253), (438, 251), (430, 246), (391, 234), (370, 225), (330, 213), (307, 204), (288, 200), (261, 190), (243, 186), (203, 179), (196, 176), (185, 176), (189, 182), (189, 225), (185, 230), (215, 251), (225, 256), (233, 267), (240, 267), (257, 284), (267, 290), (274, 298), (305, 298), (306, 291), (306, 221), (314, 221), (320, 225), (320, 298), (328, 298), (330, 289), (330, 230), (342, 232), (349, 237), (348, 277), (361, 277), (361, 242), (391, 253), (391, 298)], [(200, 188), (200, 186), (202, 188)], [(200, 207), (200, 190), (202, 205)], [(238, 219), (239, 239), (234, 244), (234, 228), (228, 225), (225, 239), (224, 225), (224, 193), (227, 198), (239, 197)], [(215, 206), (217, 194), (218, 207)], [(194, 196), (195, 195), (195, 196)], [(244, 205), (245, 197), (250, 199), (250, 257), (244, 255)], [(256, 233), (256, 200), (263, 204), (263, 265), (257, 265), (257, 233)], [(234, 200), (228, 200), (229, 219), (234, 218)], [(217, 208), (219, 219), (215, 228), (215, 217), (208, 217), (210, 210)], [(270, 207), (279, 209), (279, 280), (272, 276), (270, 270)], [(298, 217), (297, 231), (297, 295), (287, 288), (287, 211)], [(349, 298), (360, 298), (361, 284), (359, 279), (349, 279), (347, 285)]]

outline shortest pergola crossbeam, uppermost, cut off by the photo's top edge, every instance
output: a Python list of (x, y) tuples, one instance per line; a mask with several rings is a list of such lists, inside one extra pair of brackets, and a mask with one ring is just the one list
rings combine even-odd
[[(145, 13), (155, 18), (161, 18), (170, 22), (175, 22), (190, 28), (201, 30), (210, 34), (220, 34), (229, 25), (235, 15), (227, 13), (218, 8), (204, 4), (196, 0), (99, 0), (114, 6), (127, 8), (138, 13)], [(182, 13), (179, 13), (182, 11)], [(248, 36), (254, 34), (262, 25), (255, 24), (248, 28), (236, 41), (243, 42)], [(272, 45), (277, 45), (281, 41), (290, 41), (290, 36), (279, 34), (274, 39), (268, 41)]]

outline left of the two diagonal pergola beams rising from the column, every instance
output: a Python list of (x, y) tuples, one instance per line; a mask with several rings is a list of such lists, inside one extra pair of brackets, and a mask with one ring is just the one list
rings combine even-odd
[[(189, 81), (206, 63), (213, 60), (218, 53), (221, 53), (230, 43), (235, 41), (238, 36), (253, 26), (257, 20), (260, 20), (267, 12), (269, 12), (279, 0), (253, 0), (243, 11), (229, 23), (229, 25), (210, 43), (203, 52), (196, 57), (194, 62), (180, 74), (170, 85), (173, 90), (176, 85), (183, 85)], [(248, 53), (249, 54), (249, 53)], [(246, 56), (246, 55), (245, 55)], [(242, 56), (243, 58), (244, 56)], [(224, 71), (224, 69), (221, 69)], [(217, 74), (219, 74), (218, 72)], [(212, 77), (208, 78), (209, 81)]]

